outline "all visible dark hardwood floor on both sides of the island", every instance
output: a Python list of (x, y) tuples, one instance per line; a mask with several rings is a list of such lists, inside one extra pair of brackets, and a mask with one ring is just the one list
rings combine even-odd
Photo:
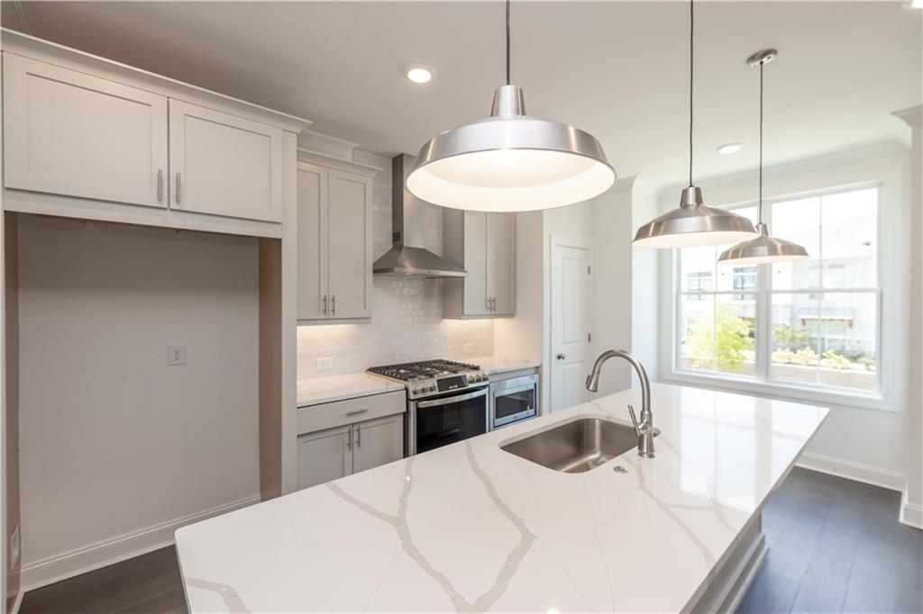
[[(923, 531), (900, 495), (795, 468), (763, 514), (770, 552), (738, 612), (923, 612)], [(174, 548), (30, 591), (22, 614), (186, 612)]]

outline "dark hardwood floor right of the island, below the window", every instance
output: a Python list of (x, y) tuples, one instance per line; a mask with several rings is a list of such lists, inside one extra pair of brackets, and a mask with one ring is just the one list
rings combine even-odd
[(923, 612), (923, 531), (900, 493), (796, 467), (762, 515), (769, 554), (737, 612)]

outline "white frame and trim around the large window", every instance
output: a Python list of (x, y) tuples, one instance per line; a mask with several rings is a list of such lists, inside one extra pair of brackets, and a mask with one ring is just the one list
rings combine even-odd
[[(771, 268), (760, 266), (758, 284), (760, 291), (756, 304), (756, 377), (738, 376), (727, 373), (694, 372), (682, 370), (679, 365), (680, 330), (679, 301), (680, 283), (678, 275), (678, 252), (665, 250), (660, 256), (661, 335), (660, 372), (665, 382), (718, 388), (732, 392), (743, 392), (819, 405), (863, 407), (886, 411), (901, 411), (905, 402), (906, 370), (902, 365), (907, 360), (905, 339), (908, 320), (908, 288), (905, 268), (901, 263), (909, 262), (909, 234), (906, 219), (909, 207), (910, 160), (905, 151), (894, 148), (863, 149), (857, 152), (832, 156), (826, 159), (786, 165), (771, 171), (764, 189), (764, 201), (775, 203), (812, 195), (831, 195), (864, 188), (879, 188), (878, 199), (878, 331), (876, 349), (878, 353), (876, 378), (877, 390), (869, 393), (862, 390), (834, 388), (812, 384), (796, 384), (770, 380), (767, 361), (770, 354), (761, 348), (769, 347), (772, 327), (766, 320), (771, 311), (767, 309), (772, 300), (770, 287)], [(746, 181), (745, 181), (745, 180)], [(727, 208), (751, 207), (755, 201), (750, 197), (752, 186), (749, 178), (731, 178), (725, 182), (703, 184), (702, 189), (709, 196), (710, 203), (729, 203)], [(743, 197), (741, 197), (743, 196)], [(665, 201), (665, 205), (668, 201)], [(772, 206), (766, 207), (771, 216)], [(767, 218), (772, 228), (772, 220)], [(887, 237), (882, 242), (881, 237)], [(808, 290), (806, 290), (808, 291)], [(833, 289), (824, 289), (831, 292)], [(850, 289), (839, 291), (848, 292)], [(785, 290), (778, 290), (785, 292)], [(724, 291), (720, 293), (725, 293)], [(728, 290), (727, 294), (741, 294)], [(761, 299), (761, 297), (765, 297)]]

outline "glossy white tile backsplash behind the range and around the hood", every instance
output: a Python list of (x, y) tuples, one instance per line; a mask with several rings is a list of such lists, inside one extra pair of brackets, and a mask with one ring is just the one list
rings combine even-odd
[[(354, 160), (377, 167), (372, 183), (374, 257), (391, 248), (391, 159), (356, 150)], [(426, 206), (426, 248), (442, 253), (442, 207)], [(465, 344), (473, 346), (465, 353)], [(443, 320), (441, 282), (423, 277), (375, 276), (371, 322), (298, 326), (298, 379), (364, 371), (407, 360), (489, 356), (492, 320)], [(320, 358), (331, 369), (318, 370)]]

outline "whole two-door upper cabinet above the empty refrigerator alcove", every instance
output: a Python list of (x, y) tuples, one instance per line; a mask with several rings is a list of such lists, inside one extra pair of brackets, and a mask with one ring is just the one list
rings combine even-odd
[(4, 210), (271, 238), (294, 218), (310, 122), (10, 30), (2, 57)]

